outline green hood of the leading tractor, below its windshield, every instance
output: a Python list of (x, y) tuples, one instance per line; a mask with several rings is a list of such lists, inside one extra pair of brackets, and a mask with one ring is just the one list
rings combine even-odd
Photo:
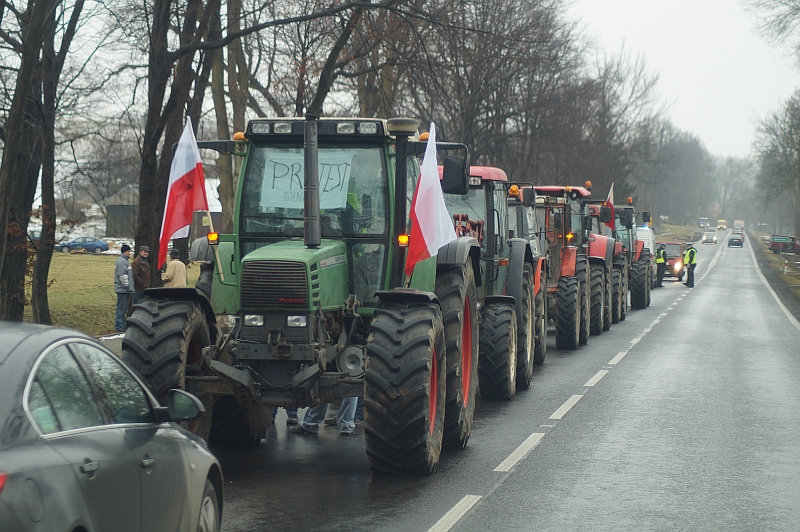
[(282, 240), (242, 259), (241, 308), (262, 312), (344, 307), (349, 293), (347, 247), (323, 239), (318, 248)]

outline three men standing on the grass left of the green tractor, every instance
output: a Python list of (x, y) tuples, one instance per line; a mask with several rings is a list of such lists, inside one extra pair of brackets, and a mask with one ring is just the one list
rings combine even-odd
[[(138, 303), (144, 295), (144, 291), (150, 288), (150, 248), (141, 246), (133, 263), (129, 262), (131, 251), (128, 244), (123, 244), (120, 248), (119, 258), (114, 265), (114, 292), (117, 294), (114, 330), (117, 332), (125, 332), (127, 327), (125, 318), (128, 316), (131, 303), (134, 305)], [(169, 256), (169, 264), (161, 274), (164, 287), (185, 288), (186, 265), (180, 260), (180, 250), (173, 248)]]

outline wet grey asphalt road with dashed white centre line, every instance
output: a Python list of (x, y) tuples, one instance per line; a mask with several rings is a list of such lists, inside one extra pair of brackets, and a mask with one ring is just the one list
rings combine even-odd
[(551, 331), (533, 388), (479, 402), (431, 477), (373, 475), (363, 429), (287, 434), (282, 411), (259, 448), (213, 449), (223, 530), (800, 530), (800, 324), (726, 241), (588, 346)]

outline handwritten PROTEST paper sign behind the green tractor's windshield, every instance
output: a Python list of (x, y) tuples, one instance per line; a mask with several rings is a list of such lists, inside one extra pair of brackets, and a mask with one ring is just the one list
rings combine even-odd
[[(320, 208), (345, 208), (353, 154), (346, 151), (326, 151), (318, 157)], [(270, 153), (264, 164), (261, 206), (303, 208), (303, 150)]]

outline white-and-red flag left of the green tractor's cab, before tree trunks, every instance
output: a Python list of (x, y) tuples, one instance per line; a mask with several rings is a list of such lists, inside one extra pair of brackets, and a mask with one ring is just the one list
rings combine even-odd
[(169, 171), (167, 203), (164, 207), (164, 221), (161, 224), (159, 238), (159, 268), (167, 261), (170, 239), (189, 236), (192, 213), (203, 210), (208, 210), (203, 163), (192, 130), (192, 121), (187, 118)]

